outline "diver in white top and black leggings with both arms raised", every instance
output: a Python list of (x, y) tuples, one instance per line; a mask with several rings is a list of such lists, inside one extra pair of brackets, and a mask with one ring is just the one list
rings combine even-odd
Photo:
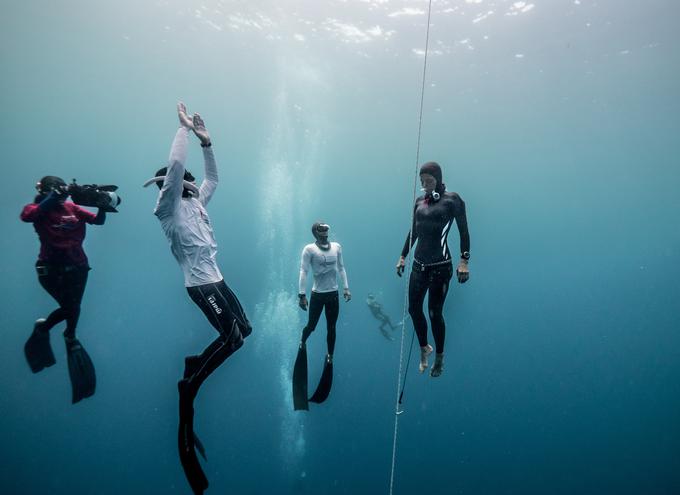
[[(193, 431), (193, 402), (208, 376), (243, 345), (252, 329), (236, 295), (224, 283), (215, 259), (217, 243), (205, 209), (217, 188), (218, 176), (212, 142), (200, 115), (187, 115), (183, 103), (177, 105), (180, 128), (170, 151), (168, 166), (156, 172), (145, 186), (160, 188), (154, 214), (170, 243), (172, 254), (184, 273), (189, 296), (201, 308), (219, 336), (200, 355), (185, 359), (184, 377), (179, 387), (179, 455), (194, 493), (208, 487), (195, 449), (205, 457), (203, 446)], [(201, 142), (205, 178), (197, 188), (193, 175), (184, 167), (189, 134)]]

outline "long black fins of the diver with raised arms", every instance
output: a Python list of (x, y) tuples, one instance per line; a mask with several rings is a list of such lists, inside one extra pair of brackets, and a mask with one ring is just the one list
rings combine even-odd
[[(184, 383), (183, 383), (184, 382)], [(198, 461), (196, 449), (205, 453), (203, 445), (194, 433), (194, 405), (193, 395), (185, 393), (184, 386), (187, 380), (179, 382), (179, 429), (177, 443), (179, 448), (179, 460), (184, 469), (184, 475), (191, 486), (195, 495), (202, 495), (208, 488), (208, 478), (206, 478), (201, 463)], [(199, 447), (200, 445), (200, 447)]]

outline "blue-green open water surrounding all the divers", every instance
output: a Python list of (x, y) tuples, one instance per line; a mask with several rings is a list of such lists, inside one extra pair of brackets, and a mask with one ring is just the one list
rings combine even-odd
[[(364, 299), (401, 318), (427, 5), (3, 5), (2, 493), (189, 492), (176, 382), (214, 331), (141, 187), (178, 100), (212, 134), (219, 263), (254, 323), (196, 403), (208, 493), (388, 493), (399, 342)], [(678, 14), (670, 0), (433, 1), (420, 161), (466, 201), (471, 279), (445, 306), (444, 375), (407, 379), (395, 494), (680, 492)], [(188, 166), (200, 176), (196, 144)], [(123, 197), (88, 229), (78, 335), (98, 389), (76, 405), (59, 329), (56, 366), (33, 375), (22, 351), (54, 309), (18, 220), (47, 174)], [(298, 257), (317, 219), (354, 299), (331, 397), (296, 413)]]

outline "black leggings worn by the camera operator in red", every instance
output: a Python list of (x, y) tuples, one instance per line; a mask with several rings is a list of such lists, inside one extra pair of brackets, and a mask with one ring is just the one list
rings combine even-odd
[(64, 336), (75, 338), (76, 326), (80, 317), (80, 302), (83, 300), (87, 285), (87, 265), (48, 265), (38, 262), (35, 265), (38, 281), (58, 303), (42, 326), (44, 331), (51, 330), (56, 324), (66, 320)]

